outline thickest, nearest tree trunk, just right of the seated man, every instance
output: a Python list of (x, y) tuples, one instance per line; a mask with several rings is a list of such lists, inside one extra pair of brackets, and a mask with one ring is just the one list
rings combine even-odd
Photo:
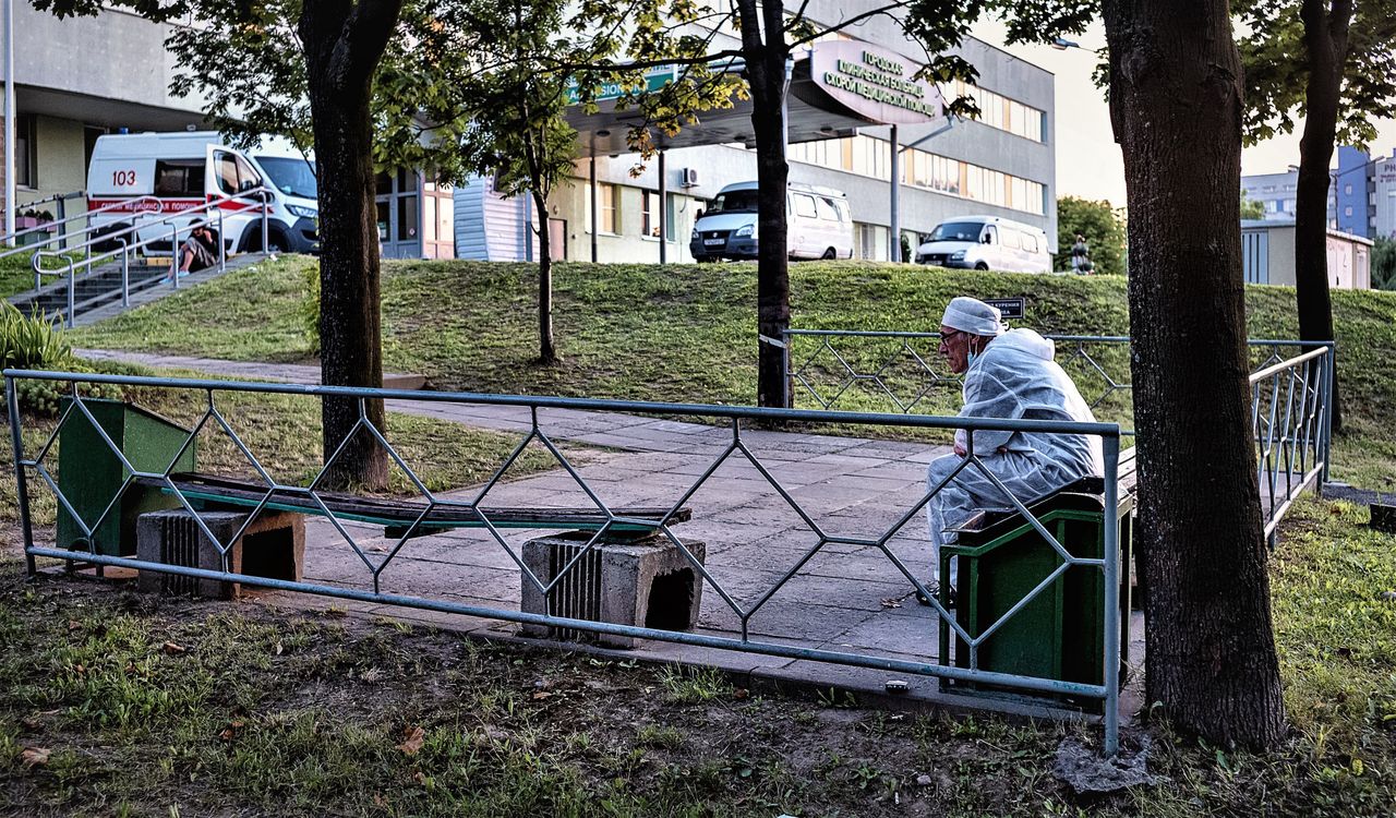
[(1104, 18), (1129, 200), (1148, 701), (1209, 740), (1273, 745), (1284, 711), (1247, 387), (1240, 56), (1226, 0), (1107, 0)]

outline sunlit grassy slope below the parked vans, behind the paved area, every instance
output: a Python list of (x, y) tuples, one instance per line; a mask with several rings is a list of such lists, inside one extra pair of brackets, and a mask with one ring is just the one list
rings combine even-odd
[[(289, 258), (237, 272), (74, 335), (81, 346), (198, 353), (243, 360), (307, 357), (299, 322), (302, 276)], [(828, 329), (934, 331), (956, 295), (1026, 296), (1041, 332), (1127, 335), (1125, 279), (1027, 276), (934, 268), (821, 262), (792, 265), (792, 324)], [(558, 367), (532, 363), (536, 271), (528, 264), (389, 262), (383, 282), (384, 366), (420, 371), (440, 388), (750, 403), (755, 394), (754, 265), (589, 265), (554, 268)], [(1252, 338), (1293, 338), (1294, 295), (1247, 290)], [(1396, 461), (1396, 293), (1333, 293), (1339, 371), (1357, 433), (1339, 441), (1343, 476), (1379, 487)], [(198, 334), (188, 332), (190, 325)], [(928, 343), (919, 353), (934, 359)], [(803, 362), (812, 349), (797, 346)], [(840, 348), (840, 352), (843, 349)], [(859, 355), (852, 350), (850, 355)], [(1101, 353), (1128, 380), (1122, 349)], [(1205, 350), (1202, 350), (1205, 356)], [(826, 359), (825, 359), (826, 360)], [(877, 360), (867, 352), (866, 362)], [(902, 371), (906, 371), (903, 356)], [(1075, 369), (1078, 378), (1083, 367)], [(824, 375), (817, 381), (832, 384)], [(896, 381), (898, 378), (893, 378)], [(905, 378), (899, 394), (907, 395)], [(1089, 392), (1086, 384), (1083, 392)], [(953, 410), (941, 389), (934, 408)], [(803, 403), (812, 405), (812, 403)], [(879, 408), (868, 399), (839, 408)], [(1103, 417), (1125, 420), (1127, 406)], [(1356, 443), (1354, 443), (1356, 441)]]

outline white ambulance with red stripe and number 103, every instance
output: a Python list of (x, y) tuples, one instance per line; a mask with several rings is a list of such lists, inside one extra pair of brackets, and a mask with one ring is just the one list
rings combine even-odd
[[(318, 190), (314, 168), (286, 140), (265, 140), (247, 154), (229, 148), (216, 131), (105, 134), (92, 148), (88, 166), (88, 209), (155, 197), (113, 208), (91, 218), (101, 232), (135, 225), (148, 254), (168, 253), (172, 223), (155, 225), (172, 214), (198, 208), (239, 191), (268, 188), (267, 246), (274, 253), (318, 253)], [(223, 212), (223, 244), (229, 253), (261, 248), (261, 201), (230, 201)], [(181, 236), (207, 212), (174, 219)], [(216, 218), (215, 218), (216, 226)], [(105, 230), (103, 230), (105, 229)], [(165, 239), (165, 241), (161, 241)], [(114, 247), (113, 247), (114, 248)]]

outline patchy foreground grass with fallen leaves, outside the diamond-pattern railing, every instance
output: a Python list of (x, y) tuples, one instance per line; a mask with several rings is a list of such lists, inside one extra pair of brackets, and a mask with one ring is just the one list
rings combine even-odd
[(0, 814), (1390, 815), (1396, 589), (1365, 510), (1305, 501), (1272, 561), (1294, 727), (1269, 754), (1154, 727), (1157, 787), (1076, 798), (1092, 729), (21, 578), (0, 558)]

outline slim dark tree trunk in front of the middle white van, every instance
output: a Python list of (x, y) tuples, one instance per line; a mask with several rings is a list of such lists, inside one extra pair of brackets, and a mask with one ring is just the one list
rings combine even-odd
[(790, 262), (786, 250), (786, 181), (790, 166), (785, 156), (786, 47), (783, 4), (761, 6), (761, 40), (755, 0), (738, 0), (741, 50), (751, 85), (751, 127), (757, 140), (757, 184), (761, 202), (757, 212), (757, 405), (790, 406), (786, 382), (785, 331), (790, 328)]

